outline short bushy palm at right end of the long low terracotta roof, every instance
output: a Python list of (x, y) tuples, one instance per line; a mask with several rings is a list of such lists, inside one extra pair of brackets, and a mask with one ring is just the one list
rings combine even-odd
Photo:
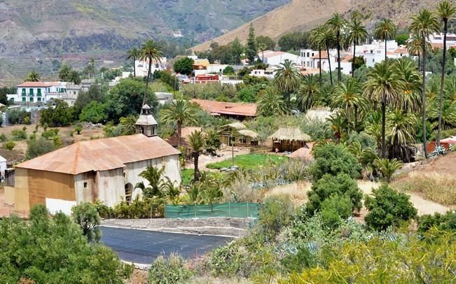
[(256, 101), (256, 112), (263, 116), (279, 116), (286, 114), (286, 104), (274, 87), (261, 90)]

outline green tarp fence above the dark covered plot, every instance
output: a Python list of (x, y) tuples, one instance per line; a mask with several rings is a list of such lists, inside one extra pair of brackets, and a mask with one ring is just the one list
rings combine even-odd
[(260, 204), (221, 203), (212, 205), (165, 206), (165, 218), (237, 217), (258, 218)]

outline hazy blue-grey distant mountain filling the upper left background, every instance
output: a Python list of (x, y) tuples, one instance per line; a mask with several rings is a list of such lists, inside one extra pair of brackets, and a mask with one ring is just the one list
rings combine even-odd
[(0, 0), (0, 78), (53, 73), (55, 60), (120, 60), (146, 38), (206, 41), (289, 1)]

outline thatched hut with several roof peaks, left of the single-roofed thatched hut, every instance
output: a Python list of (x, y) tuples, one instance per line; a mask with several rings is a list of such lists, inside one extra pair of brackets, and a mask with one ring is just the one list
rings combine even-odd
[(221, 127), (221, 143), (240, 147), (258, 145), (258, 134), (247, 129), (247, 126), (240, 122), (233, 122)]

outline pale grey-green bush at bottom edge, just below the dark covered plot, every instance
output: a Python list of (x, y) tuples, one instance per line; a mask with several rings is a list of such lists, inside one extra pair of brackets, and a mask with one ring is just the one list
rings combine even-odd
[(157, 257), (148, 269), (147, 279), (148, 283), (154, 284), (186, 283), (192, 275), (193, 271), (185, 267), (184, 259), (171, 254), (167, 258)]

